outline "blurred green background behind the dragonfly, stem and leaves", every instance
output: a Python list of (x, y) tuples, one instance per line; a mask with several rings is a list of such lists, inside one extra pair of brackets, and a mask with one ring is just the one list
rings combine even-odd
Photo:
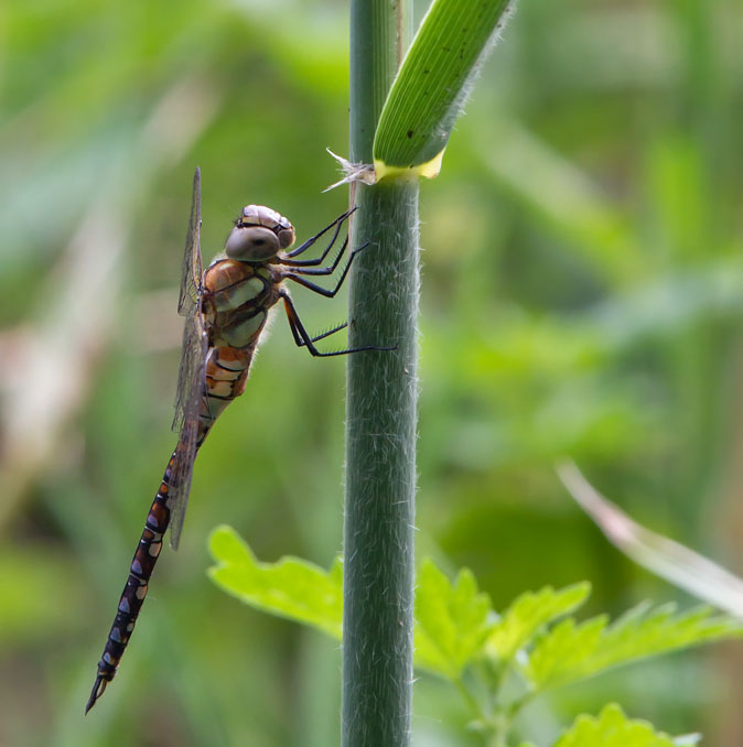
[[(321, 190), (324, 149), (347, 153), (347, 7), (11, 0), (0, 34), (0, 745), (337, 744), (337, 647), (204, 573), (219, 522), (263, 560), (341, 548), (344, 364), (280, 317), (121, 671), (83, 708), (174, 443), (194, 166), (207, 260), (248, 202), (300, 237), (344, 209)], [(523, 0), (422, 185), (418, 553), (473, 569), (497, 608), (583, 578), (591, 613), (691, 604), (571, 502), (563, 455), (743, 572), (742, 43), (735, 0)], [(345, 317), (294, 299), (310, 329)], [(616, 700), (739, 746), (742, 660), (622, 670), (540, 701), (524, 735)], [(477, 744), (453, 691), (416, 688), (418, 747)]]

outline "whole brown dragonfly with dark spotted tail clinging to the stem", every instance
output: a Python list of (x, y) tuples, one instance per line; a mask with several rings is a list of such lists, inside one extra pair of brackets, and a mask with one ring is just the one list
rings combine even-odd
[[(315, 357), (330, 357), (384, 350), (376, 346), (321, 351), (319, 340), (345, 328), (347, 322), (314, 337), (302, 324), (284, 282), (291, 280), (314, 293), (333, 297), (348, 273), (360, 245), (347, 257), (332, 289), (308, 279), (332, 275), (346, 253), (346, 235), (333, 261), (323, 266), (338, 240), (343, 225), (355, 208), (338, 216), (297, 249), (294, 227), (276, 210), (262, 205), (247, 205), (227, 237), (224, 252), (207, 267), (201, 253), (201, 171), (193, 181), (191, 217), (183, 258), (179, 314), (185, 317), (181, 368), (173, 430), (179, 434), (160, 488), (144, 522), (129, 576), (119, 599), (104, 653), (98, 662), (96, 681), (85, 713), (96, 704), (116, 675), (119, 662), (134, 629), (148, 584), (170, 529), (170, 544), (176, 550), (191, 490), (194, 459), (219, 414), (246, 386), (250, 364), (269, 310), (282, 302), (294, 343)], [(297, 259), (325, 236), (327, 246), (315, 259)]]

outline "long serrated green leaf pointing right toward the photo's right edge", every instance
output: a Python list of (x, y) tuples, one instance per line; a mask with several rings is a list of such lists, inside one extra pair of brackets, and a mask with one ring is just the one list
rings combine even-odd
[(675, 605), (640, 604), (610, 627), (603, 615), (582, 625), (564, 620), (537, 643), (525, 673), (537, 688), (566, 684), (636, 659), (743, 635), (740, 621), (712, 617), (708, 607), (675, 611)]

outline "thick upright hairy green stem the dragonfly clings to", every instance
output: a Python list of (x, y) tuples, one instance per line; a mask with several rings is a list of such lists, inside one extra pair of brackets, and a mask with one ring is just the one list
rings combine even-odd
[[(351, 153), (374, 130), (406, 46), (407, 3), (352, 2)], [(343, 746), (410, 744), (416, 490), (418, 184), (355, 195), (344, 529)]]

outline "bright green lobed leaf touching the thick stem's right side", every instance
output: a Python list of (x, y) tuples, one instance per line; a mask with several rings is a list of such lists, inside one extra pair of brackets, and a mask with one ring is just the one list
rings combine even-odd
[(489, 597), (477, 592), (471, 571), (460, 571), (452, 584), (432, 561), (423, 561), (416, 592), (416, 665), (457, 680), (483, 649), (491, 613)]

